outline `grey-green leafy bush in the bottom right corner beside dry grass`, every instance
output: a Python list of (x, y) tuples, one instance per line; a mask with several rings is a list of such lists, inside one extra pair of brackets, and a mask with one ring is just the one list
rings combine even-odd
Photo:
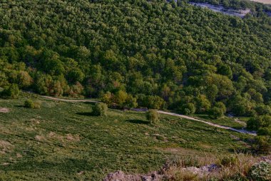
[(248, 172), (251, 180), (268, 181), (271, 180), (271, 164), (270, 162), (260, 162), (253, 165)]

